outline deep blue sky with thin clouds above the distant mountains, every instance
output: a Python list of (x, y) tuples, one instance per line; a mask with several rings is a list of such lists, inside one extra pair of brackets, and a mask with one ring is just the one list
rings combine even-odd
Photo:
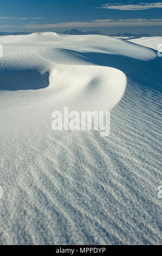
[(63, 32), (76, 28), (162, 35), (159, 0), (0, 0), (0, 31)]

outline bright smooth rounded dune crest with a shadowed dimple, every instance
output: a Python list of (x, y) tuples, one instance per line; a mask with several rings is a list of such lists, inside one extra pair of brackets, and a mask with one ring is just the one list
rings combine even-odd
[(74, 109), (111, 109), (124, 95), (126, 76), (105, 66), (58, 65), (50, 72), (48, 88)]

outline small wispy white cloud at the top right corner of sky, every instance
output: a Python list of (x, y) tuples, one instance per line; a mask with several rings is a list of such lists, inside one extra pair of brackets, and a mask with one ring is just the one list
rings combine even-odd
[(100, 9), (114, 9), (114, 10), (147, 10), (154, 8), (162, 8), (162, 2), (157, 3), (139, 3), (139, 4), (102, 4)]

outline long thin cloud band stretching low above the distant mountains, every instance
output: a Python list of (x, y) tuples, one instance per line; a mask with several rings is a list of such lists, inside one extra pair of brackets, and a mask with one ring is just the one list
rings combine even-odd
[(119, 27), (119, 26), (162, 26), (162, 19), (95, 20), (90, 22), (62, 22), (42, 25), (24, 25), (26, 28), (74, 28), (74, 27)]

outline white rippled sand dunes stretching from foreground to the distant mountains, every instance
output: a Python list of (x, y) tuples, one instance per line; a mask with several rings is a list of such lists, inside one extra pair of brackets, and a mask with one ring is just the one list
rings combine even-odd
[[(161, 243), (161, 39), (0, 36), (0, 244)], [(111, 134), (52, 131), (63, 106)]]

